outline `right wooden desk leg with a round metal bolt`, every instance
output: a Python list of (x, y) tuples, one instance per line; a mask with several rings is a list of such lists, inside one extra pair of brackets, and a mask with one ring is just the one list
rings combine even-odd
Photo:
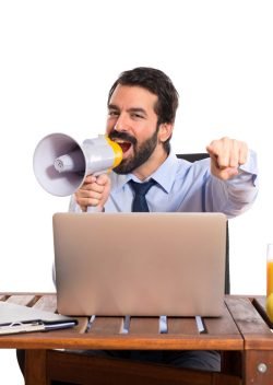
[(273, 351), (245, 351), (245, 385), (272, 385)]

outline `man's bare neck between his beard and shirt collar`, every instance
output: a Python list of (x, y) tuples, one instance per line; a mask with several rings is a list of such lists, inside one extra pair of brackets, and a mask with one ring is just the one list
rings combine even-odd
[(140, 180), (145, 180), (149, 178), (156, 170), (165, 162), (168, 154), (163, 149), (162, 145), (157, 145), (149, 158), (149, 160), (143, 163), (140, 167), (133, 171), (133, 175), (135, 175)]

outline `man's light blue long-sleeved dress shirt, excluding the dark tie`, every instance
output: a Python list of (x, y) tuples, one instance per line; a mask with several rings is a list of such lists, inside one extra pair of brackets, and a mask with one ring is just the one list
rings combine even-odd
[[(151, 212), (223, 212), (227, 218), (246, 211), (254, 201), (257, 186), (256, 153), (249, 151), (246, 164), (239, 174), (229, 180), (214, 177), (210, 172), (211, 160), (194, 163), (177, 159), (171, 151), (165, 162), (152, 174), (156, 184), (146, 194)], [(133, 174), (110, 173), (111, 191), (105, 212), (131, 212), (133, 191), (130, 179), (139, 180)], [(81, 211), (73, 201), (70, 211)]]

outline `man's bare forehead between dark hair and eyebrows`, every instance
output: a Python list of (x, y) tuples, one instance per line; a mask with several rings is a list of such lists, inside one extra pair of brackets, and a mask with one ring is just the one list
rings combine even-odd
[(109, 104), (121, 109), (140, 107), (154, 110), (156, 102), (157, 96), (142, 86), (118, 84), (110, 97)]

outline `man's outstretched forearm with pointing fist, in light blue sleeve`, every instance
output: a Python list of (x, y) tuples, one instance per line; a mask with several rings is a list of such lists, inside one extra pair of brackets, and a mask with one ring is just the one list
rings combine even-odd
[(205, 210), (229, 218), (248, 210), (258, 194), (256, 153), (245, 142), (229, 138), (207, 147), (212, 178), (207, 184)]

